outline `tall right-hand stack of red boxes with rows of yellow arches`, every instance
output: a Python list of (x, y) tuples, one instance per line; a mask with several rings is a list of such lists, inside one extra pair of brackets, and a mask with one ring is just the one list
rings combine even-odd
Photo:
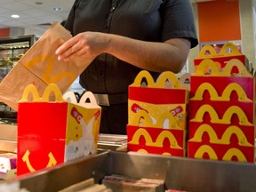
[(244, 63), (203, 60), (190, 79), (188, 157), (253, 163), (255, 83)]

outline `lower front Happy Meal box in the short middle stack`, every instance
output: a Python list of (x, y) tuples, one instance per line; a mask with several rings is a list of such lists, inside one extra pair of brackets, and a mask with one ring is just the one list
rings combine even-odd
[(165, 156), (185, 156), (186, 130), (181, 129), (176, 119), (165, 113), (159, 116), (156, 124), (146, 111), (140, 110), (127, 124), (127, 149), (146, 154)]

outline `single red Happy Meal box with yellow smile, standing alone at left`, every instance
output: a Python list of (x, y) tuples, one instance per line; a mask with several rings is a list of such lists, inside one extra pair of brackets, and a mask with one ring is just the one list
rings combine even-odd
[(29, 84), (19, 102), (17, 174), (96, 154), (100, 116), (92, 92), (77, 103), (73, 92), (62, 97), (56, 84), (48, 85), (42, 98)]

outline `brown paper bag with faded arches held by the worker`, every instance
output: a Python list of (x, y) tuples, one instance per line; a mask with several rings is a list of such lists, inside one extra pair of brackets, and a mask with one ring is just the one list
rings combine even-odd
[(60, 61), (55, 51), (71, 38), (68, 30), (54, 22), (26, 52), (0, 83), (0, 101), (14, 110), (28, 84), (34, 84), (39, 94), (48, 84), (57, 84), (66, 92), (94, 57)]

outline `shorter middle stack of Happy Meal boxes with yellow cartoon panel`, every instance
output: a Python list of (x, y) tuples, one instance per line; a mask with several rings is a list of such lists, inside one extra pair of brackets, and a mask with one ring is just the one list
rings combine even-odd
[(166, 71), (155, 83), (142, 70), (128, 96), (128, 151), (185, 156), (189, 92), (178, 78)]

